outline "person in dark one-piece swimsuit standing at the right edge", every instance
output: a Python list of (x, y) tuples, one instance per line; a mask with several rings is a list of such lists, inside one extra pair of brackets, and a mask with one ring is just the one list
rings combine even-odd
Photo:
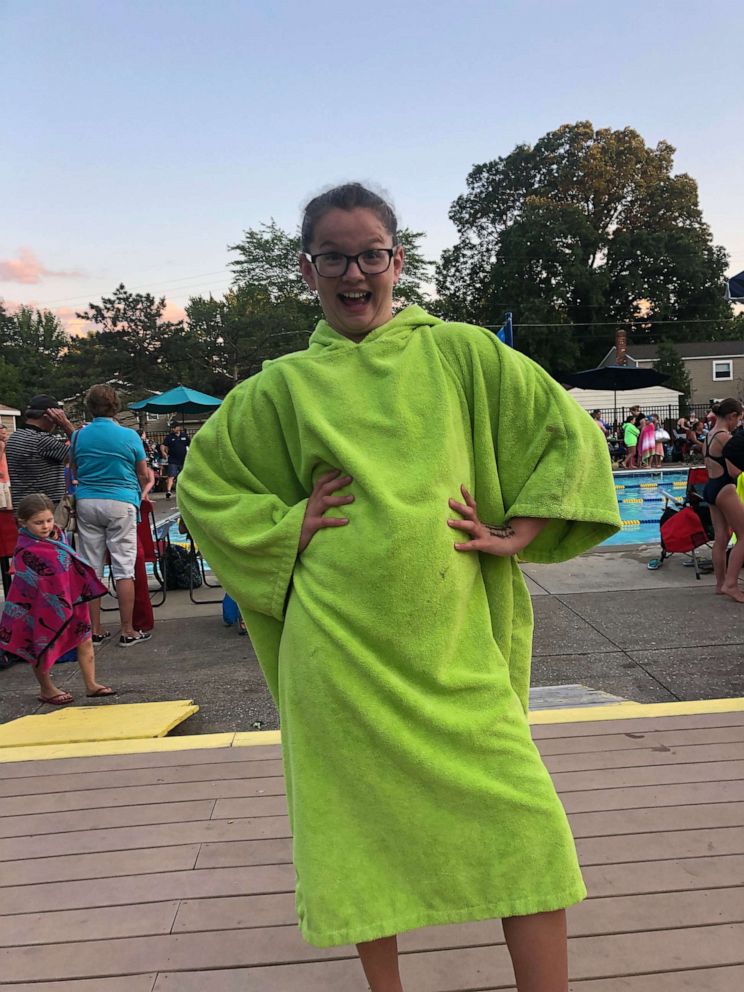
[[(715, 539), (713, 541), (713, 571), (716, 593), (744, 603), (739, 589), (739, 572), (744, 564), (744, 503), (736, 491), (736, 479), (741, 469), (726, 458), (725, 447), (731, 433), (742, 417), (742, 405), (733, 398), (722, 400), (713, 407), (716, 420), (703, 442), (703, 456), (708, 470), (708, 482), (703, 497), (710, 506)], [(726, 549), (731, 532), (736, 534), (736, 546), (726, 564)]]

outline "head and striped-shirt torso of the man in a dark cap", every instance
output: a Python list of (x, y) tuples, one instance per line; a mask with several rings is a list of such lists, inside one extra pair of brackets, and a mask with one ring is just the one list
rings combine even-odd
[(25, 425), (10, 435), (5, 449), (13, 506), (30, 493), (44, 493), (59, 503), (65, 494), (68, 444), (54, 431), (59, 428), (69, 438), (75, 428), (62, 404), (45, 393), (29, 400), (25, 418)]

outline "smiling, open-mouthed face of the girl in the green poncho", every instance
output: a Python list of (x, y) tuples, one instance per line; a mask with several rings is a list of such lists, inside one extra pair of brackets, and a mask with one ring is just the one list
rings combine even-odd
[[(393, 248), (393, 237), (368, 207), (327, 211), (316, 222), (310, 254), (340, 252), (356, 255), (370, 248)], [(362, 341), (370, 331), (386, 324), (393, 316), (393, 287), (403, 269), (403, 249), (395, 254), (386, 272), (365, 275), (356, 262), (350, 262), (342, 276), (319, 276), (312, 262), (300, 256), (302, 276), (320, 298), (331, 327), (352, 341)]]

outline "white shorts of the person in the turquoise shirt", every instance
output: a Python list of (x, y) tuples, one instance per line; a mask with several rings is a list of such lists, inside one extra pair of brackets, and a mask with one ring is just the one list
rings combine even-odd
[(78, 551), (103, 575), (108, 550), (114, 581), (134, 578), (137, 558), (137, 510), (118, 499), (79, 499), (75, 502)]

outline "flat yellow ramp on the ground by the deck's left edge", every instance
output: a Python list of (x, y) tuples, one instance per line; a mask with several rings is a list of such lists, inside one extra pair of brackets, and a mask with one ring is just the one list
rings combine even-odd
[(0, 747), (165, 737), (169, 730), (198, 710), (193, 699), (115, 706), (67, 706), (55, 713), (22, 716), (0, 725)]

